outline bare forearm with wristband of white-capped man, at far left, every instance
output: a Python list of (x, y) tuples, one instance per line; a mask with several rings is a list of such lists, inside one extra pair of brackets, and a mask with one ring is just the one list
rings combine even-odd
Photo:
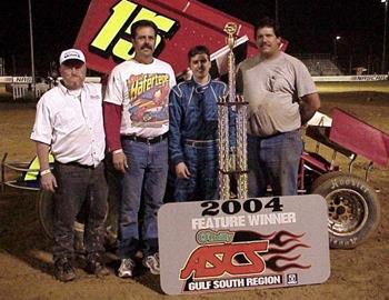
[(57, 180), (50, 171), (49, 164), (49, 151), (50, 146), (43, 142), (36, 141), (37, 144), (37, 154), (40, 164), (40, 186), (46, 191), (54, 192), (57, 186)]

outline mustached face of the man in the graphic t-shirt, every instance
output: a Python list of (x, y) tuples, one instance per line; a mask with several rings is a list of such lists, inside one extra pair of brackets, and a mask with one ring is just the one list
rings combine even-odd
[(152, 27), (139, 27), (132, 39), (136, 56), (151, 58), (156, 47), (156, 31)]

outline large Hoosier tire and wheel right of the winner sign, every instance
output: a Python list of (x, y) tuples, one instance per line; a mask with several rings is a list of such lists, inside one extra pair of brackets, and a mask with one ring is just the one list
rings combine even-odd
[(327, 201), (331, 248), (356, 248), (377, 229), (380, 203), (363, 179), (341, 172), (326, 173), (313, 182), (312, 193), (321, 194)]

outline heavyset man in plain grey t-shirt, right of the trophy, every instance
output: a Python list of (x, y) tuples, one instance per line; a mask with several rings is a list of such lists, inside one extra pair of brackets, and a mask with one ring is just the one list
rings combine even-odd
[(297, 194), (302, 141), (300, 127), (320, 107), (312, 78), (298, 59), (280, 51), (281, 37), (273, 20), (256, 26), (260, 53), (243, 61), (237, 89), (249, 102), (249, 197)]

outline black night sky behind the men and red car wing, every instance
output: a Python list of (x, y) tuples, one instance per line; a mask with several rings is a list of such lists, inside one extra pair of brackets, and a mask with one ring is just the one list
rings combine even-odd
[[(275, 18), (275, 0), (201, 0), (249, 23)], [(36, 70), (47, 76), (50, 62), (70, 48), (88, 10), (89, 0), (31, 0)], [(380, 0), (278, 0), (282, 37), (289, 53), (333, 53), (341, 67), (363, 66), (380, 72), (385, 3)], [(1, 1), (0, 57), (8, 74), (30, 72), (28, 0)]]

